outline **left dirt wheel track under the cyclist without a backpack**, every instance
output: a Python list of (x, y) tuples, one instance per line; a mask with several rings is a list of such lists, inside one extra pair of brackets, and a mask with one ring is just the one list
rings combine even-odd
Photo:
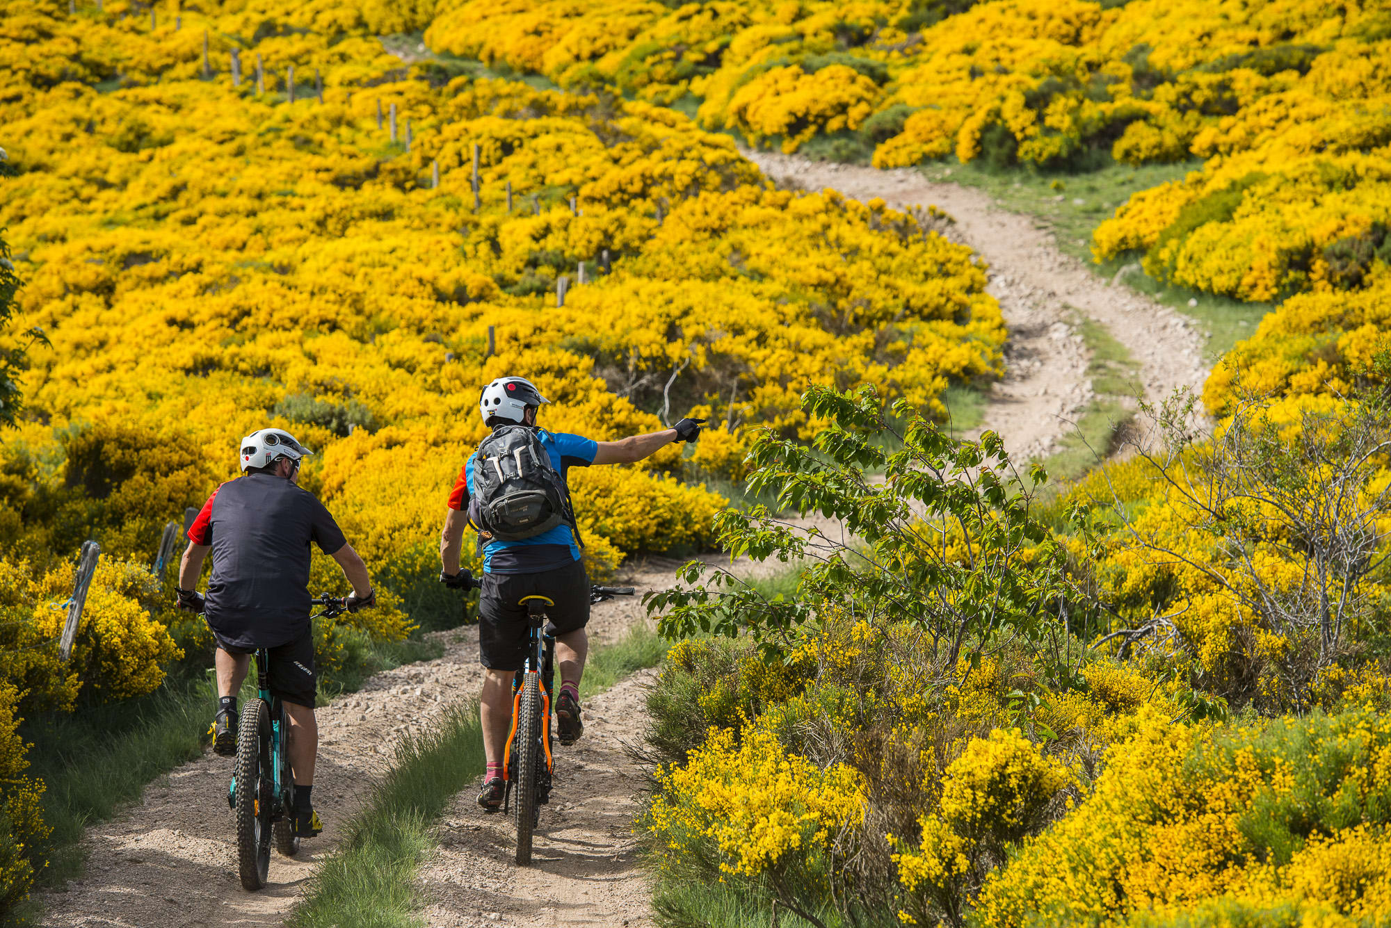
[[(593, 638), (613, 640), (643, 621), (641, 593), (669, 585), (679, 564), (654, 558), (626, 568), (623, 582), (637, 586), (638, 593), (594, 607)], [(323, 836), (305, 842), (299, 857), (271, 857), (266, 890), (248, 893), (241, 888), (225, 799), (232, 761), (209, 752), (146, 786), (139, 804), (88, 831), (86, 874), (70, 881), (65, 892), (45, 895), (40, 924), (280, 925), (314, 863), (332, 850), (342, 824), (387, 771), (401, 736), (428, 729), (447, 706), (477, 695), (477, 627), (431, 638), (444, 645), (442, 657), (377, 674), (356, 693), (319, 709), (314, 804), (327, 828)]]

